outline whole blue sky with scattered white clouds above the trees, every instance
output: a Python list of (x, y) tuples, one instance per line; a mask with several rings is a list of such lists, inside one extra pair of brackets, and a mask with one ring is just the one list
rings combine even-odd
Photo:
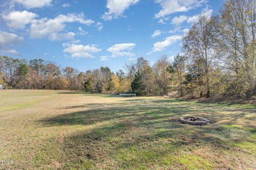
[(225, 0), (0, 0), (0, 55), (41, 58), (79, 71), (153, 65), (182, 52), (182, 36), (199, 15)]

